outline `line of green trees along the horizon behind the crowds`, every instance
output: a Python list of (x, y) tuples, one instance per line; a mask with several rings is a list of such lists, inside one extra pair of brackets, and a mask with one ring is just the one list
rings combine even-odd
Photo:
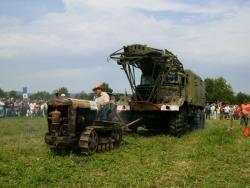
[[(223, 77), (206, 78), (204, 81), (206, 86), (206, 101), (208, 103), (221, 101), (229, 104), (241, 104), (244, 101), (250, 101), (250, 95), (247, 93), (239, 92), (235, 94), (232, 86)], [(102, 86), (106, 92), (113, 92), (108, 83), (103, 82)], [(61, 87), (57, 89), (57, 91), (61, 94), (65, 94), (67, 97), (74, 97), (77, 99), (92, 100), (94, 96), (94, 93), (86, 93), (85, 91), (70, 94), (66, 87)], [(17, 91), (7, 92), (0, 88), (0, 98), (1, 97), (21, 99), (22, 94)], [(53, 97), (54, 93), (49, 93), (47, 91), (38, 91), (36, 93), (29, 94), (29, 99), (31, 100), (48, 100)]]

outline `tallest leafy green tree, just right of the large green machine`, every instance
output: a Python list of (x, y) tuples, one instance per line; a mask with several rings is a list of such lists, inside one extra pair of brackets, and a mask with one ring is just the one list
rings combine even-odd
[(233, 89), (223, 77), (219, 77), (216, 79), (206, 78), (205, 85), (207, 102), (235, 102)]

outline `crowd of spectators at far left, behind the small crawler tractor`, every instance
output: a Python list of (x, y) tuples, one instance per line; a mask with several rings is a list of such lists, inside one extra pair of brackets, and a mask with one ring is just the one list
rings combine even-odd
[(46, 112), (47, 103), (45, 100), (0, 98), (0, 117), (45, 117)]

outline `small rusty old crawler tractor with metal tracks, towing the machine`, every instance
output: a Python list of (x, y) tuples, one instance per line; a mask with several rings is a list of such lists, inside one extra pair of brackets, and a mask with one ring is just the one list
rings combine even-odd
[(56, 98), (48, 101), (48, 132), (45, 142), (52, 150), (70, 148), (85, 155), (120, 146), (119, 122), (96, 120), (93, 101)]

